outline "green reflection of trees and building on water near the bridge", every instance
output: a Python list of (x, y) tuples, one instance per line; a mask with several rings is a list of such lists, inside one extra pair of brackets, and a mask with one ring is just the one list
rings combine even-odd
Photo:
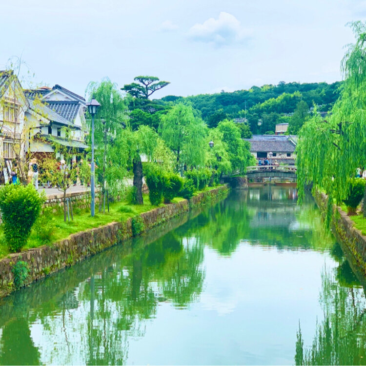
[(233, 191), (197, 216), (188, 232), (224, 255), (243, 240), (295, 250), (325, 250), (334, 241), (311, 197), (300, 207), (293, 188), (270, 186)]

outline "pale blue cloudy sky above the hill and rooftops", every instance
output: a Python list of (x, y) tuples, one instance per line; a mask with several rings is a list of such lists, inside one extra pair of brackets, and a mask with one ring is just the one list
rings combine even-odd
[(341, 80), (366, 1), (12, 0), (1, 13), (0, 69), (21, 57), (25, 86), (83, 96), (89, 81), (152, 75), (170, 81), (161, 98)]

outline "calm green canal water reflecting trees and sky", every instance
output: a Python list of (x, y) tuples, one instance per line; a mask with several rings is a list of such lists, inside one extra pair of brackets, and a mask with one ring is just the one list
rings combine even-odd
[(307, 197), (233, 191), (0, 301), (0, 364), (365, 364), (364, 288)]

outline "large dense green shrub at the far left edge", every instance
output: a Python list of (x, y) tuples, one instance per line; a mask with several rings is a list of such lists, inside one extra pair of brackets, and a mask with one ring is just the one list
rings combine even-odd
[(40, 196), (31, 184), (7, 184), (0, 189), (1, 217), (10, 251), (20, 251), (27, 243), (43, 202), (44, 196)]

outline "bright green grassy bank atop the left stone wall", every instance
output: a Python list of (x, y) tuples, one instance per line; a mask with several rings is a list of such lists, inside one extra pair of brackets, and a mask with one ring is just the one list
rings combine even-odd
[[(194, 195), (198, 195), (201, 192), (211, 190), (216, 187), (206, 187), (201, 191), (197, 191)], [(176, 197), (172, 200), (172, 203), (178, 203), (183, 201), (183, 198)], [(96, 207), (96, 214), (94, 217), (90, 216), (90, 211), (81, 211), (74, 214), (74, 221), (64, 222), (63, 212), (58, 210), (57, 213), (53, 213), (52, 209), (46, 209), (32, 228), (31, 235), (28, 239), (26, 246), (23, 250), (30, 248), (37, 248), (41, 245), (52, 244), (61, 239), (66, 239), (71, 234), (85, 231), (88, 229), (100, 227), (113, 222), (123, 222), (130, 217), (134, 217), (143, 212), (150, 211), (156, 207), (164, 206), (161, 203), (159, 206), (153, 206), (148, 195), (143, 195), (142, 205), (128, 204), (127, 202), (110, 203), (109, 212), (99, 213)], [(0, 258), (9, 254), (6, 240), (3, 234), (2, 225), (0, 225)]]

